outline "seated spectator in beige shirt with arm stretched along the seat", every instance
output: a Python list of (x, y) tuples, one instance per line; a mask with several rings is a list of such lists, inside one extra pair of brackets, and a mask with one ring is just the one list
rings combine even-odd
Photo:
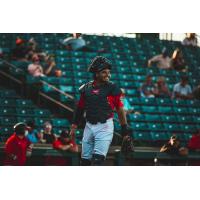
[(160, 55), (154, 56), (148, 60), (148, 67), (150, 67), (153, 63), (156, 63), (159, 69), (171, 69), (171, 59), (167, 55), (166, 48), (163, 48)]

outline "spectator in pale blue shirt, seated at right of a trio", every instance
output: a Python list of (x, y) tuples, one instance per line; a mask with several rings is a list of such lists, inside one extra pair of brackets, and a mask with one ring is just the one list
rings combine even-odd
[(181, 82), (174, 85), (173, 98), (175, 99), (192, 99), (192, 89), (188, 84), (188, 77), (182, 76)]

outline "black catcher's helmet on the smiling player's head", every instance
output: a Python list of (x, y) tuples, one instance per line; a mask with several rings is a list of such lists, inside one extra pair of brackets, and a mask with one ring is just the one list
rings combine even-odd
[(112, 68), (111, 62), (102, 56), (96, 56), (88, 67), (88, 71), (92, 73), (100, 72), (104, 69)]

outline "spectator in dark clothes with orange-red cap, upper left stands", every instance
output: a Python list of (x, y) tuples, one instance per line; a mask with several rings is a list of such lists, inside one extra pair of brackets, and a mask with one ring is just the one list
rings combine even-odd
[(28, 48), (21, 38), (16, 39), (16, 47), (12, 50), (12, 58), (20, 61), (27, 61)]

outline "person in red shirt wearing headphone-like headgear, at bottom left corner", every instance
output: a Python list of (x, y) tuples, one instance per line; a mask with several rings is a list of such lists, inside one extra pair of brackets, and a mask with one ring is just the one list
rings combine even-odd
[(5, 144), (4, 165), (23, 166), (26, 164), (26, 157), (31, 155), (32, 150), (32, 144), (25, 137), (26, 128), (24, 123), (17, 123), (14, 126), (14, 133)]

